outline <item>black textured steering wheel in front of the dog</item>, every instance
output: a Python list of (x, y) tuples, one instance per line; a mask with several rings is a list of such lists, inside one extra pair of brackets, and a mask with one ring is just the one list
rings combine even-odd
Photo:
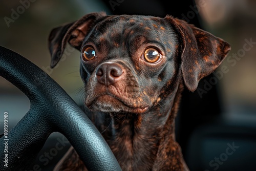
[[(31, 104), (22, 120), (0, 139), (0, 170), (26, 169), (53, 132), (67, 137), (89, 170), (121, 170), (87, 115), (34, 63), (0, 46), (0, 76), (21, 90)], [(3, 162), (6, 155), (8, 167)]]

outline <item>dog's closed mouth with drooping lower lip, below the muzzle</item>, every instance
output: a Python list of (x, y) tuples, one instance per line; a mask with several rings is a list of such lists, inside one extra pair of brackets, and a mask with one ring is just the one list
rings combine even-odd
[(90, 110), (100, 112), (128, 112), (142, 114), (149, 108), (148, 105), (135, 105), (116, 97), (111, 93), (97, 95), (91, 101), (85, 101)]

